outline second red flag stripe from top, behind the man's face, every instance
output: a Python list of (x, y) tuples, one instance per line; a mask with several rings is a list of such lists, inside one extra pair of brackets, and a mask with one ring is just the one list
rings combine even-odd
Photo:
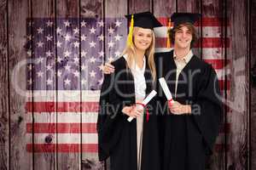
[[(156, 37), (155, 46), (156, 48), (166, 48), (166, 37)], [(173, 46), (172, 46), (173, 47)], [(224, 39), (220, 37), (203, 37), (202, 46), (201, 40), (195, 44), (195, 48), (224, 48)], [(227, 48), (230, 48), (230, 38), (227, 38)]]

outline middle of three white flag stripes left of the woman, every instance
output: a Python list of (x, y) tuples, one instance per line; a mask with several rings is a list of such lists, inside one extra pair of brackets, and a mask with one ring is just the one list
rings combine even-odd
[[(34, 112), (34, 122), (80, 122), (80, 116), (82, 115), (83, 123), (96, 123), (97, 122), (97, 112), (82, 112), (81, 114), (78, 112), (60, 112), (60, 113), (48, 113), (48, 112)], [(27, 122), (32, 122), (32, 113), (27, 113)]]

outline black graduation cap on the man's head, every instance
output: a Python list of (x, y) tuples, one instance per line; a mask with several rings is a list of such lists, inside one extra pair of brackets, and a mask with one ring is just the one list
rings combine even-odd
[(173, 13), (171, 16), (171, 20), (172, 22), (174, 22), (173, 28), (175, 28), (185, 22), (189, 22), (193, 25), (195, 21), (200, 19), (200, 17), (201, 14), (197, 13)]

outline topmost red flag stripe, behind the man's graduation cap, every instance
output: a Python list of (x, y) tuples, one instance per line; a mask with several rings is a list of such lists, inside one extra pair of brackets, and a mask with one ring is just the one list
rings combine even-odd
[[(160, 23), (163, 25), (163, 26), (168, 26), (168, 20), (169, 18), (168, 17), (159, 17), (157, 18)], [(201, 20), (201, 26), (224, 26), (224, 19), (223, 18), (218, 18), (218, 17), (203, 17), (202, 20)], [(230, 21), (228, 20), (228, 26), (230, 26)], [(172, 23), (172, 26), (173, 26), (173, 23)], [(199, 26), (198, 25), (198, 22), (195, 23), (195, 26)]]

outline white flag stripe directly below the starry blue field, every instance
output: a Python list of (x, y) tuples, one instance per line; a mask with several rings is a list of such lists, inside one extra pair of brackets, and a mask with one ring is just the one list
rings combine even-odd
[(32, 101), (33, 97), (34, 102), (56, 101), (56, 96), (58, 96), (58, 102), (80, 102), (80, 97), (82, 97), (82, 102), (93, 102), (99, 101), (100, 91), (58, 90), (56, 94), (55, 90), (35, 90), (26, 93), (27, 101)]

